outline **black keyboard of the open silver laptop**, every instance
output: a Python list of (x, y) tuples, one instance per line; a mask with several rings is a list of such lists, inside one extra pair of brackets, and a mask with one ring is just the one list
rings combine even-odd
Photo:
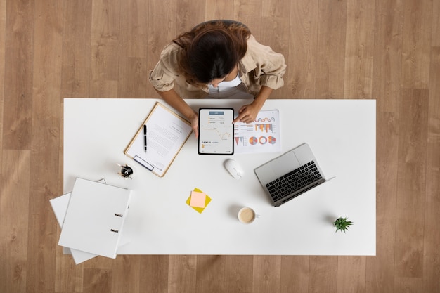
[(315, 162), (311, 161), (266, 184), (274, 202), (321, 179)]

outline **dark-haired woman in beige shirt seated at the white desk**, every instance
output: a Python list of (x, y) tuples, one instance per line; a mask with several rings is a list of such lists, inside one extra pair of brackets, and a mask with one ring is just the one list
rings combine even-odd
[(182, 113), (198, 137), (198, 114), (183, 98), (254, 98), (235, 122), (253, 122), (274, 89), (283, 86), (284, 57), (259, 44), (240, 22), (203, 22), (165, 46), (150, 83)]

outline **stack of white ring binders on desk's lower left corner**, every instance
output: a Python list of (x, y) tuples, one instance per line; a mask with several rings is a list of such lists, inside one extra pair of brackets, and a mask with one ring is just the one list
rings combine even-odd
[(130, 198), (129, 189), (77, 178), (72, 193), (51, 200), (62, 228), (58, 245), (77, 264), (97, 255), (115, 259)]

